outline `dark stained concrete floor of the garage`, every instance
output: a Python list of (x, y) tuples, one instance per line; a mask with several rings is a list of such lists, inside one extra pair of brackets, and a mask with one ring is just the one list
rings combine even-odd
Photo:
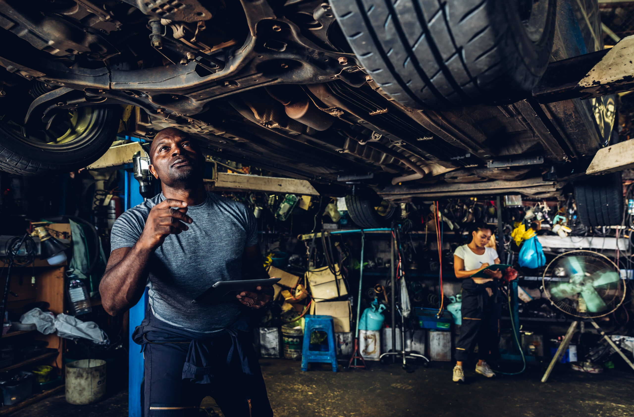
[[(469, 366), (467, 383), (457, 385), (448, 362), (432, 362), (430, 368), (418, 367), (413, 373), (378, 362), (370, 362), (367, 371), (339, 373), (326, 364), (314, 364), (302, 373), (299, 362), (284, 359), (261, 359), (260, 364), (276, 417), (634, 416), (634, 375), (621, 372), (590, 375), (560, 366), (548, 383), (541, 383), (540, 366), (491, 380)], [(90, 406), (72, 406), (56, 395), (11, 415), (126, 417), (127, 392)]]

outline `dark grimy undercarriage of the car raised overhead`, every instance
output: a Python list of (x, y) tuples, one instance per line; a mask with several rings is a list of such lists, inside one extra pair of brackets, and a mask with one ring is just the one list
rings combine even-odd
[[(486, 79), (505, 63), (473, 75), (506, 36), (477, 46), (493, 24), (463, 27), (474, 31), (466, 46), (452, 26), (448, 3), (474, 4), (461, 12), (465, 25), (479, 13), (495, 16), (489, 3), (499, 2), (357, 3), (363, 13), (347, 0), (1, 0), (0, 169), (68, 172), (100, 157), (117, 132), (151, 139), (177, 127), (210, 155), (339, 184), (339, 193), (553, 198), (618, 141), (614, 96), (540, 103), (530, 94), (548, 61), (603, 49), (596, 3), (509, 2), (527, 39), (531, 22), (541, 22), (536, 39), (546, 43), (541, 74), (526, 85)], [(410, 6), (417, 21), (398, 10)], [(439, 28), (451, 35), (449, 56)], [(376, 47), (367, 53), (365, 35)], [(401, 59), (392, 58), (392, 35), (409, 52), (404, 69), (391, 64)], [(417, 52), (421, 42), (429, 60)], [(377, 56), (385, 69), (370, 67)], [(434, 60), (437, 68), (427, 68)], [(456, 60), (470, 74), (464, 83)], [(422, 89), (410, 87), (410, 69)]]

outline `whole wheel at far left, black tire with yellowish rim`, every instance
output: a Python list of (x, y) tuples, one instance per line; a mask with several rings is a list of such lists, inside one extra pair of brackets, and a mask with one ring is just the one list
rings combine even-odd
[(119, 130), (119, 106), (60, 112), (46, 126), (23, 124), (23, 114), (0, 110), (0, 170), (24, 176), (71, 172), (98, 160)]

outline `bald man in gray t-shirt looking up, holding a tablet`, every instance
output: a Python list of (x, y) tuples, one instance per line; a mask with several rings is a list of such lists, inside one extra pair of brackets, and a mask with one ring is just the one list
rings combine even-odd
[(162, 193), (127, 210), (112, 228), (101, 279), (103, 308), (120, 314), (149, 288), (134, 331), (145, 358), (145, 416), (198, 416), (214, 397), (224, 416), (273, 416), (246, 313), (269, 303), (270, 287), (230, 304), (191, 304), (217, 281), (268, 278), (256, 219), (242, 203), (205, 191), (205, 158), (187, 134), (167, 128), (150, 147)]

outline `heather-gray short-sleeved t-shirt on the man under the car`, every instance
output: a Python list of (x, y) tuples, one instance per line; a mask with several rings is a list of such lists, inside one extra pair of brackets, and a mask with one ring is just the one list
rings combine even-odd
[[(133, 247), (150, 209), (165, 200), (161, 193), (126, 210), (112, 228), (112, 250)], [(242, 278), (242, 255), (257, 243), (256, 218), (243, 203), (207, 193), (189, 206), (193, 222), (181, 234), (169, 234), (148, 262), (149, 304), (154, 316), (187, 330), (211, 333), (235, 323), (243, 311), (235, 304), (191, 304), (217, 281)]]

